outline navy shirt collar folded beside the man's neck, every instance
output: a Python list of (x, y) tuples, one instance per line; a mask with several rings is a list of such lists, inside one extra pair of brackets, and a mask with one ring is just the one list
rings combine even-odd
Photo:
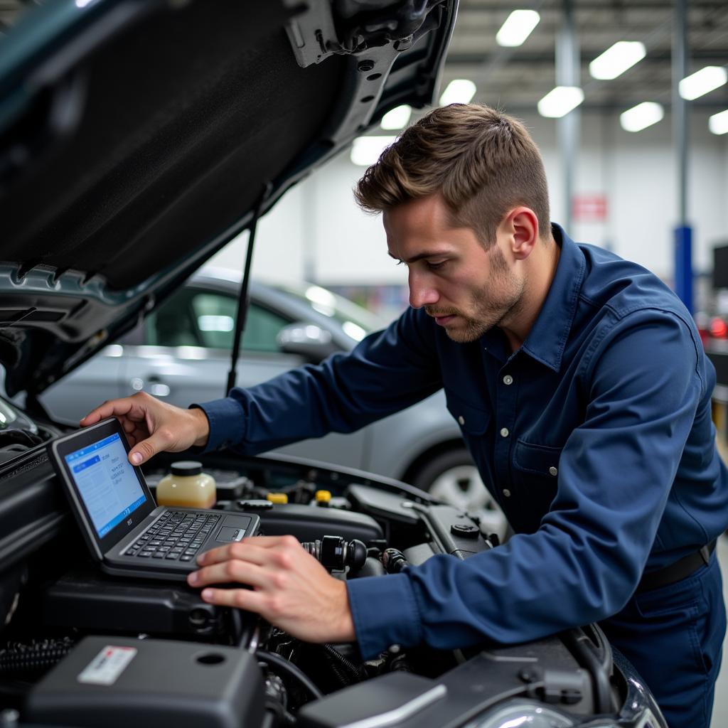
[(541, 312), (521, 349), (558, 372), (577, 312), (586, 264), (579, 246), (563, 232), (561, 226), (552, 223), (551, 232), (556, 244), (561, 245), (561, 256)]

